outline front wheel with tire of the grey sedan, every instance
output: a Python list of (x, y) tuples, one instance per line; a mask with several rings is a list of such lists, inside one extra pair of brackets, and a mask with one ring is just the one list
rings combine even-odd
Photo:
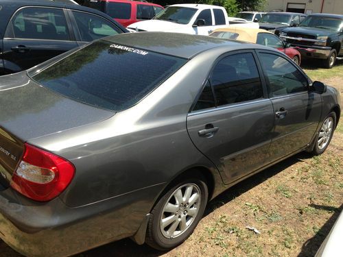
[(320, 131), (316, 137), (316, 141), (314, 143), (314, 149), (312, 150), (312, 154), (318, 156), (327, 149), (331, 138), (333, 136), (333, 131), (335, 130), (336, 124), (336, 114), (335, 112), (331, 112), (322, 123), (322, 127), (320, 127)]

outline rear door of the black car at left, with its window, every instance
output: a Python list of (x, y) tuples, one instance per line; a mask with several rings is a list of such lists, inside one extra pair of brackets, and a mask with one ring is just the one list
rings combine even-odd
[(3, 64), (14, 73), (77, 46), (63, 9), (25, 7), (14, 13), (6, 28)]

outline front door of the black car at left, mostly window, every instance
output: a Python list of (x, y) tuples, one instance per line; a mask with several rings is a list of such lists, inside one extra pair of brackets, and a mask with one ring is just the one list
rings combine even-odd
[(114, 23), (96, 14), (68, 10), (71, 21), (73, 21), (73, 31), (78, 45), (85, 45), (93, 40), (123, 33)]

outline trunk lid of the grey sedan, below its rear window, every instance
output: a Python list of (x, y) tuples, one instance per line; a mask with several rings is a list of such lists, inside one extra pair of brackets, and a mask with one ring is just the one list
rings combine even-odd
[(0, 77), (0, 184), (8, 187), (27, 140), (114, 114), (54, 93), (32, 81), (25, 71)]

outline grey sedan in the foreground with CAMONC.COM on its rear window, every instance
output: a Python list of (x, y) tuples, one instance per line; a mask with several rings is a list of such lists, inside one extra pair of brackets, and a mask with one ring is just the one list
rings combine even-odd
[(0, 77), (0, 238), (28, 256), (176, 247), (226, 188), (321, 154), (339, 97), (270, 47), (165, 32)]

